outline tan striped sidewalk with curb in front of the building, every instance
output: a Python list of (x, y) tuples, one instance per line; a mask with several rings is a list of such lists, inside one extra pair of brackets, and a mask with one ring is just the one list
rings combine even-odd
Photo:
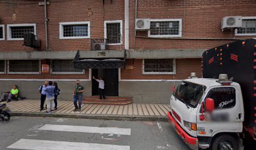
[[(3, 104), (2, 102), (0, 104)], [(58, 101), (58, 109), (54, 113), (40, 111), (40, 100), (21, 100), (7, 103), (13, 116), (36, 116), (54, 118), (85, 118), (110, 120), (166, 121), (168, 104), (138, 104), (125, 106), (82, 104), (82, 111), (73, 112), (73, 101)]]

